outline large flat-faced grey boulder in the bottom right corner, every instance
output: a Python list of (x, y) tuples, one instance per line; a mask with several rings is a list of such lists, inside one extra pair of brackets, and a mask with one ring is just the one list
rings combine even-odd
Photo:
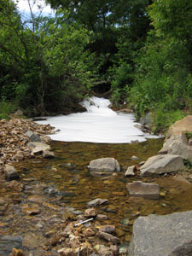
[[(171, 256), (183, 247), (191, 255), (192, 211), (139, 217), (133, 225), (129, 256)], [(173, 254), (174, 253), (174, 254)], [(180, 251), (181, 253), (181, 251)]]

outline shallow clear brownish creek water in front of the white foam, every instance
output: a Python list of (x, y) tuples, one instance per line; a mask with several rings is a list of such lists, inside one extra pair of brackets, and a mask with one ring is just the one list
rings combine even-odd
[[(45, 234), (62, 228), (65, 207), (84, 212), (88, 208), (87, 202), (107, 198), (108, 204), (97, 207), (99, 213), (108, 215), (108, 220), (102, 220), (100, 224), (114, 224), (116, 236), (122, 243), (130, 241), (132, 224), (138, 216), (192, 210), (192, 186), (177, 177), (124, 177), (127, 166), (147, 160), (160, 150), (162, 143), (163, 139), (148, 139), (143, 143), (131, 144), (53, 141), (51, 148), (55, 159), (31, 159), (15, 165), (22, 183), (26, 184), (24, 191), (4, 189), (0, 183), (0, 205), (1, 198), (6, 199), (6, 207), (0, 206), (0, 235), (22, 236), (26, 252), (31, 252), (26, 255), (57, 255), (53, 250), (44, 251), (47, 241)], [(139, 160), (131, 160), (132, 155), (137, 155)], [(87, 167), (90, 160), (101, 157), (117, 159), (122, 172), (114, 177), (91, 176)], [(160, 200), (130, 197), (125, 185), (133, 180), (159, 183)], [(38, 199), (34, 200), (34, 197)], [(34, 205), (40, 206), (40, 212), (28, 216), (25, 207)], [(55, 252), (58, 248), (55, 245)]]

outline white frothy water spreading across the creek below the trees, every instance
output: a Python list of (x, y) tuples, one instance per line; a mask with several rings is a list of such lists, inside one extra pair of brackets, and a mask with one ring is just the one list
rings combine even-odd
[(51, 139), (65, 142), (89, 143), (131, 143), (143, 142), (146, 134), (137, 129), (132, 113), (116, 113), (108, 108), (109, 100), (91, 97), (81, 105), (84, 113), (71, 113), (48, 117), (38, 124), (50, 124), (61, 131), (51, 135)]

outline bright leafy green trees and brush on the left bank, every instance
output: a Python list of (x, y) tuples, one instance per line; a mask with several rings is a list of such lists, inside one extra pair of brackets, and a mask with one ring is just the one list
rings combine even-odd
[(79, 101), (97, 72), (95, 54), (85, 49), (90, 32), (67, 24), (61, 10), (54, 18), (32, 15), (21, 21), (11, 1), (3, 0), (0, 8), (0, 95), (35, 114)]

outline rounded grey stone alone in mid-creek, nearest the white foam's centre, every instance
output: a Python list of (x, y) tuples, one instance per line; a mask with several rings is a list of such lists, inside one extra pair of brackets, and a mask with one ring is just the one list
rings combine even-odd
[(118, 160), (110, 157), (91, 160), (88, 167), (90, 172), (120, 172)]

